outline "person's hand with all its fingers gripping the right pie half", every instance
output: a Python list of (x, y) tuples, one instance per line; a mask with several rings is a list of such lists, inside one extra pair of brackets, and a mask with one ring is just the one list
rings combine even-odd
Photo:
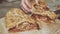
[[(31, 0), (21, 0), (20, 7), (24, 10), (25, 13), (30, 12), (32, 5), (30, 3)], [(39, 0), (35, 0), (35, 3), (38, 5)]]

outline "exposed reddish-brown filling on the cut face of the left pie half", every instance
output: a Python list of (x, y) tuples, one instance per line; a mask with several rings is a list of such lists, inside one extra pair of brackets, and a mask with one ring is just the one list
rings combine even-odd
[(9, 32), (24, 32), (24, 31), (29, 31), (29, 30), (36, 30), (37, 24), (32, 24), (32, 23), (28, 23), (28, 22), (24, 22), (24, 23), (20, 23), (18, 24), (18, 27), (13, 27), (10, 28), (8, 31)]

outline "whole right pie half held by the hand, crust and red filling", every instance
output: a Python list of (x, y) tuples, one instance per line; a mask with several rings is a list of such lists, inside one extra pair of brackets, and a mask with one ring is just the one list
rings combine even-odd
[(50, 11), (50, 8), (45, 0), (39, 0), (39, 5), (37, 5), (35, 2), (32, 2), (31, 12), (32, 19), (37, 21), (42, 20), (45, 23), (54, 23), (56, 19), (56, 14)]

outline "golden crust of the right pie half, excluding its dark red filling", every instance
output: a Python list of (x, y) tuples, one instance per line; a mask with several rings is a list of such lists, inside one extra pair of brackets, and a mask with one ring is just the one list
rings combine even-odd
[(36, 5), (34, 2), (32, 3), (31, 12), (33, 14), (39, 14), (42, 16), (48, 16), (50, 19), (55, 19), (56, 14), (51, 12), (45, 0), (39, 0), (39, 5)]

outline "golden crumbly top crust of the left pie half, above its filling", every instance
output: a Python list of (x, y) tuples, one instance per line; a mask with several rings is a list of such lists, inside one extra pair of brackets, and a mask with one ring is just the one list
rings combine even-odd
[(11, 10), (9, 10), (9, 12), (6, 14), (5, 20), (8, 30), (15, 26), (18, 27), (18, 24), (25, 21), (32, 24), (35, 23), (34, 19), (26, 15), (22, 10), (18, 8), (12, 8)]

